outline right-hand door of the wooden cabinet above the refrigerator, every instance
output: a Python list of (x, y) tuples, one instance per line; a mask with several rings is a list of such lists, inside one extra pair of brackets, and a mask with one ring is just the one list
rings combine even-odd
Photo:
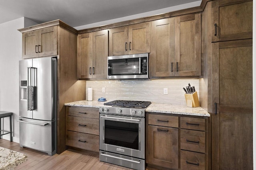
[(57, 27), (47, 27), (38, 30), (38, 56), (57, 54)]

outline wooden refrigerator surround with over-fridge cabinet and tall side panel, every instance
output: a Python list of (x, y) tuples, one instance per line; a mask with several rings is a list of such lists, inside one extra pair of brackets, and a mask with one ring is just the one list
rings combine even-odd
[[(66, 150), (66, 109), (64, 104), (86, 98), (85, 81), (77, 80), (77, 30), (60, 20), (55, 20), (22, 28), (19, 31), (22, 33), (23, 59), (57, 57), (56, 122), (57, 153), (60, 154)], [(39, 49), (38, 45), (41, 45)], [(27, 53), (28, 51), (29, 53)], [(46, 53), (42, 55), (40, 52)]]

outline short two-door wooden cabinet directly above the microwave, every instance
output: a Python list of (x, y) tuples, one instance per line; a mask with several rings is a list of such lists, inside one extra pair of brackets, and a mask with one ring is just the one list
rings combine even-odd
[(149, 52), (149, 22), (109, 29), (109, 56)]

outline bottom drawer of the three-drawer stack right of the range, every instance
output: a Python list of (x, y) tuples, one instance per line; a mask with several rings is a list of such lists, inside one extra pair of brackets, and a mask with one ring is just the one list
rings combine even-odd
[(181, 170), (204, 170), (205, 154), (180, 150)]

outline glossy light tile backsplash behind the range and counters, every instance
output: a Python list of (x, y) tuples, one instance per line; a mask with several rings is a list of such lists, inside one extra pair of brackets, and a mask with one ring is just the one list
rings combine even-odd
[[(186, 105), (183, 87), (195, 86), (199, 96), (199, 79), (158, 79), (158, 80), (97, 80), (86, 81), (87, 88), (92, 88), (92, 99), (100, 97), (112, 100), (140, 100), (152, 103)], [(105, 88), (105, 93), (102, 93)], [(168, 94), (164, 94), (168, 88)]]

